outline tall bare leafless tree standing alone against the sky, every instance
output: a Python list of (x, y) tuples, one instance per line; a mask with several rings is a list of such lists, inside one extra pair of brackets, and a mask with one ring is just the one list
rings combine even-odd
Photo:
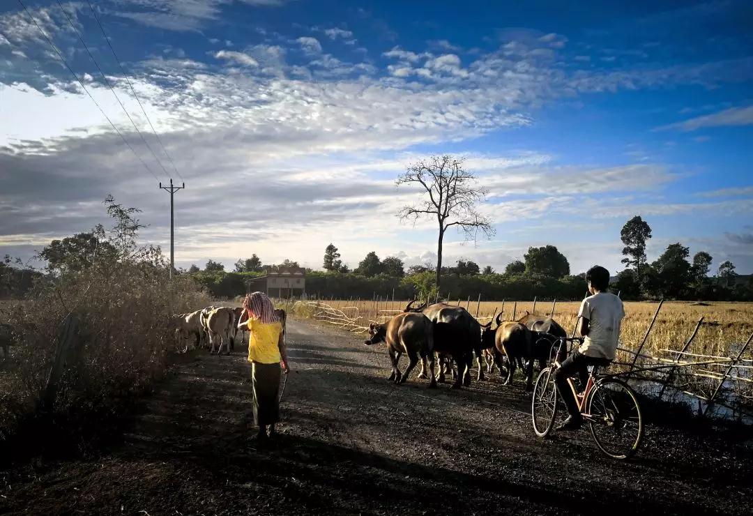
[(463, 168), (462, 157), (431, 156), (411, 163), (395, 183), (399, 186), (417, 183), (425, 190), (419, 203), (405, 206), (398, 212), (401, 220), (416, 221), (424, 216), (436, 217), (439, 224), (437, 238), (437, 291), (441, 286), (442, 241), (450, 227), (457, 226), (465, 233), (465, 240), (478, 239), (479, 234), (492, 237), (494, 228), (488, 218), (477, 210), (488, 191), (476, 184), (476, 176)]

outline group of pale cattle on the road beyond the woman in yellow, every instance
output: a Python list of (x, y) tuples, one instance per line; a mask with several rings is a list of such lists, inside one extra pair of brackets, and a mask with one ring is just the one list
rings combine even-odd
[[(237, 328), (237, 322), (242, 316), (243, 309), (230, 307), (206, 307), (191, 313), (181, 313), (172, 318), (170, 330), (178, 340), (178, 348), (187, 351), (191, 346), (209, 349), (210, 353), (219, 355), (224, 348), (228, 355), (235, 349), (235, 341), (240, 336), (245, 338), (245, 329)], [(285, 310), (277, 309), (275, 313), (282, 322), (283, 332), (287, 314)]]

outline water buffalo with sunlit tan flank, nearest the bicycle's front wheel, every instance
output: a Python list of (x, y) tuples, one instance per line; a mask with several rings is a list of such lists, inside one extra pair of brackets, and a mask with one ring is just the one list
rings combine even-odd
[(495, 363), (499, 368), (503, 383), (511, 382), (515, 373), (516, 362), (526, 361), (526, 391), (533, 389), (533, 362), (538, 360), (541, 368), (546, 367), (550, 357), (551, 344), (542, 331), (529, 329), (522, 322), (502, 321), (502, 314), (495, 319), (497, 327), (492, 329), (492, 322), (483, 326), (481, 334), (482, 347), (492, 349)]

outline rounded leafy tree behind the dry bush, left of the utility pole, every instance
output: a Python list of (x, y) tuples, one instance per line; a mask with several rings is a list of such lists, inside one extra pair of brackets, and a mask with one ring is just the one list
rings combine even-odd
[(51, 272), (79, 272), (90, 267), (96, 258), (111, 260), (117, 257), (117, 249), (101, 237), (92, 231), (53, 240), (41, 250), (39, 258), (47, 261), (47, 269)]

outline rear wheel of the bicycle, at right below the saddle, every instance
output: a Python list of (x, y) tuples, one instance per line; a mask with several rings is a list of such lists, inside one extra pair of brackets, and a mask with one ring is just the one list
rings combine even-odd
[(636, 393), (626, 383), (614, 378), (596, 383), (586, 414), (599, 450), (613, 459), (627, 459), (636, 453), (643, 438), (643, 417)]

